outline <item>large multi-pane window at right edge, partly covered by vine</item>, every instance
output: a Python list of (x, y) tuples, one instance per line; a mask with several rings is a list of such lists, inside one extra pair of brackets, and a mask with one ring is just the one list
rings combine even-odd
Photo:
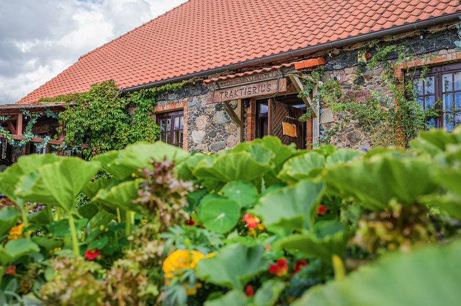
[(436, 105), (440, 116), (429, 125), (452, 131), (461, 122), (461, 63), (436, 66), (429, 69), (425, 78), (420, 72), (414, 76), (416, 100), (424, 109)]

